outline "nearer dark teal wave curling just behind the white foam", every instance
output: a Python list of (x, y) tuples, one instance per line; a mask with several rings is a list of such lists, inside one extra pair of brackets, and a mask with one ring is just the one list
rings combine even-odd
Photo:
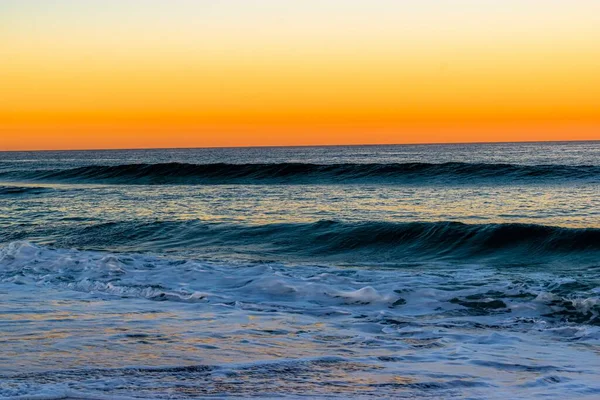
[(58, 247), (186, 252), (258, 259), (396, 262), (482, 260), (535, 264), (596, 262), (600, 229), (460, 222), (341, 222), (241, 225), (202, 221), (120, 221), (0, 232), (0, 241)]

